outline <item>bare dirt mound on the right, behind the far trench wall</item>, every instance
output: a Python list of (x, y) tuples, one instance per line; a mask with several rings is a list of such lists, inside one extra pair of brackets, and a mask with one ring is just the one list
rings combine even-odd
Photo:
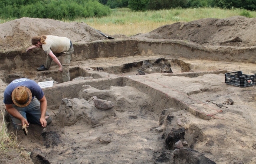
[(254, 46), (255, 24), (255, 18), (243, 16), (226, 19), (207, 18), (161, 26), (133, 37), (183, 40), (200, 45)]

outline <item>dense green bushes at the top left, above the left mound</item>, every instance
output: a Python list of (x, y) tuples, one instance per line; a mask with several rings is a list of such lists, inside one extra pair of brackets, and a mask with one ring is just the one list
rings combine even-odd
[(1, 0), (2, 18), (75, 19), (110, 14), (108, 6), (98, 0)]

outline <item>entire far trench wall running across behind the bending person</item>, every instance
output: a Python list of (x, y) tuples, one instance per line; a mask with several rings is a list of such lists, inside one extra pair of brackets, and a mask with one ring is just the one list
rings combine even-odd
[[(256, 47), (236, 48), (226, 46), (205, 47), (177, 41), (145, 41), (138, 39), (96, 41), (74, 45), (72, 61), (87, 58), (125, 57), (134, 55), (171, 55), (214, 61), (256, 62)], [(37, 68), (44, 64), (46, 55), (37, 48), (33, 51), (0, 52), (0, 69)]]

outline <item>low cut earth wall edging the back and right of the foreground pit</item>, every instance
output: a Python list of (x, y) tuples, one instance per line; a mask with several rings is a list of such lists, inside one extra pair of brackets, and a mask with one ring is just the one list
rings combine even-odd
[(52, 88), (45, 88), (43, 89), (43, 91), (46, 95), (48, 106), (55, 106), (55, 109), (59, 109), (58, 107), (61, 105), (61, 100), (63, 98), (72, 99), (78, 97), (78, 94), (82, 90), (83, 85), (90, 85), (99, 90), (105, 90), (111, 86), (131, 86), (138, 89), (142, 93), (147, 93), (148, 96), (151, 97), (151, 104), (147, 107), (147, 109), (152, 112), (154, 111), (155, 113), (161, 113), (162, 110), (168, 108), (175, 108), (180, 110), (186, 109), (190, 113), (202, 119), (210, 119), (209, 116), (206, 116), (200, 112), (195, 111), (194, 109), (191, 109), (186, 104), (182, 103), (181, 101), (175, 99), (172, 96), (167, 95), (161, 90), (155, 89), (148, 86), (147, 84), (143, 84), (140, 81), (133, 80), (128, 77), (101, 78), (91, 81), (75, 80), (70, 81), (67, 84), (62, 83), (58, 86), (53, 86)]

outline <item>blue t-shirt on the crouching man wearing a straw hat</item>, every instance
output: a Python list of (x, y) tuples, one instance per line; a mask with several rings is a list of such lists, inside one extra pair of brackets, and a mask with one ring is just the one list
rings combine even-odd
[(32, 96), (33, 96), (32, 100), (34, 99), (34, 96), (36, 96), (36, 98), (38, 100), (41, 100), (44, 96), (43, 90), (41, 89), (41, 87), (38, 84), (36, 84), (36, 82), (34, 80), (30, 80), (27, 78), (21, 78), (21, 79), (13, 80), (6, 87), (6, 89), (3, 93), (3, 103), (13, 104), (12, 92), (16, 87), (19, 87), (19, 86), (25, 86), (30, 89)]

